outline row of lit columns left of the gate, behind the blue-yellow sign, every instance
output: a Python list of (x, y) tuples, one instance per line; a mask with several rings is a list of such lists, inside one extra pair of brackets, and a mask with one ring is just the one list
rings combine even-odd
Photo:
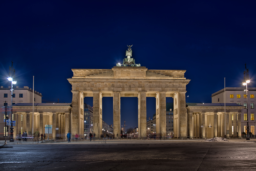
[[(33, 113), (13, 113), (13, 120), (16, 120), (14, 127), (14, 136), (19, 132), (32, 133)], [(52, 134), (49, 138), (63, 139), (70, 132), (70, 113), (49, 113), (49, 112), (34, 112), (34, 132), (37, 130), (40, 134), (48, 134), (45, 132), (45, 125), (52, 125)], [(56, 128), (59, 128), (56, 130)]]

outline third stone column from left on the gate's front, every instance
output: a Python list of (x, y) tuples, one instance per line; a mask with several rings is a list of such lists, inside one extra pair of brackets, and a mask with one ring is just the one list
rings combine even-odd
[[(94, 93), (93, 93), (94, 95)], [(93, 98), (94, 99), (94, 98)], [(94, 100), (93, 100), (94, 102)], [(95, 102), (96, 103), (96, 102)], [(97, 100), (97, 103), (99, 103), (99, 99)], [(94, 105), (94, 103), (93, 103)], [(113, 133), (116, 136), (116, 134), (120, 135), (121, 132), (121, 126), (120, 126), (120, 92), (116, 91), (113, 92)], [(99, 104), (98, 104), (99, 106)], [(99, 113), (99, 112), (98, 112)], [(94, 120), (94, 107), (93, 107), (93, 120)]]

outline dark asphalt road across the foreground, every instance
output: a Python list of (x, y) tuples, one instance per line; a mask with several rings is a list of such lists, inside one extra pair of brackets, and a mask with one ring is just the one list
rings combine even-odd
[(255, 142), (13, 144), (0, 170), (256, 170)]

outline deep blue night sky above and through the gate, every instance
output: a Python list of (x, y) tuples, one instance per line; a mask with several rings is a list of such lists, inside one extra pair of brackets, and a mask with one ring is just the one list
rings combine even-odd
[[(1, 1), (1, 86), (10, 85), (13, 60), (17, 86), (32, 87), (34, 75), (42, 99), (70, 103), (71, 68), (110, 69), (133, 44), (132, 57), (148, 69), (187, 70), (189, 102), (211, 103), (224, 77), (227, 87), (241, 87), (245, 62), (255, 87), (255, 2), (122, 2)], [(112, 98), (103, 102), (112, 124)], [(155, 98), (147, 98), (147, 117), (154, 113)], [(137, 98), (121, 98), (124, 119), (138, 125)]]

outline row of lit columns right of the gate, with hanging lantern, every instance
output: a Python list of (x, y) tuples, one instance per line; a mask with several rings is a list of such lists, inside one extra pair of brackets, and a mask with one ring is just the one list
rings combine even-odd
[(225, 132), (226, 138), (241, 138), (241, 113), (226, 113), (226, 130), (222, 112), (188, 113), (188, 119), (189, 138), (225, 137)]

